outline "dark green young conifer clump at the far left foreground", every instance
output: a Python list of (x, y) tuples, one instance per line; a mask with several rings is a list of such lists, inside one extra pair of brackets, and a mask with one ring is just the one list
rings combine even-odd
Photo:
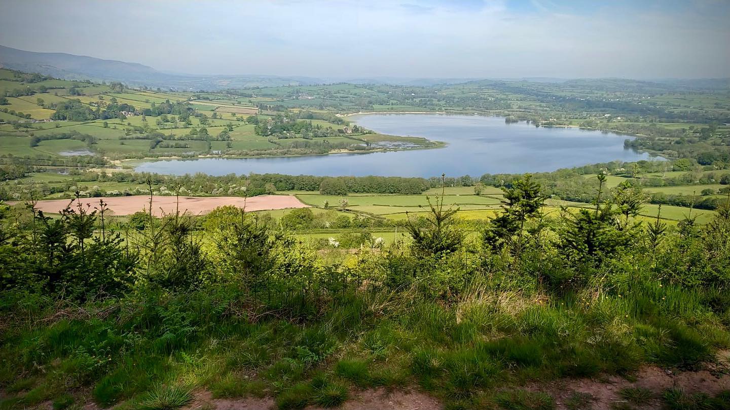
[[(31, 205), (32, 206), (32, 205)], [(137, 255), (123, 247), (119, 233), (107, 233), (106, 204), (89, 212), (77, 202), (53, 219), (32, 209), (30, 236), (15, 236), (15, 246), (0, 249), (7, 271), (0, 276), (3, 289), (64, 293), (69, 298), (120, 295), (133, 281)], [(96, 223), (101, 234), (93, 235)]]

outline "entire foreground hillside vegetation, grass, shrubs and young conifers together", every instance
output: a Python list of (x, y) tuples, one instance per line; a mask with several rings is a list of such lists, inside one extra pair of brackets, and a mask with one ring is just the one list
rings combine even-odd
[[(514, 179), (476, 236), (442, 187), (404, 225), (407, 241), (354, 254), (316, 252), (232, 206), (201, 218), (148, 209), (120, 230), (103, 202), (56, 219), (3, 207), (0, 408), (175, 409), (208, 390), (302, 409), (415, 385), (449, 408), (553, 409), (515, 386), (718, 368), (730, 203), (707, 225), (675, 227), (639, 219), (645, 197), (631, 185), (592, 181), (593, 204), (546, 214), (543, 187)], [(726, 397), (664, 392), (702, 409)]]

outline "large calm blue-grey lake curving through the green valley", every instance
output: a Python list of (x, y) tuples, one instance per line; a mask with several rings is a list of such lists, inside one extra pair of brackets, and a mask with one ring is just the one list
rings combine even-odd
[[(402, 150), (285, 158), (199, 158), (142, 163), (135, 171), (158, 174), (289, 174), (318, 176), (450, 177), (554, 171), (560, 168), (650, 159), (623, 147), (628, 136), (579, 128), (505, 123), (479, 115), (374, 114), (350, 121), (382, 134), (447, 142), (431, 150)], [(657, 158), (659, 159), (659, 158)]]

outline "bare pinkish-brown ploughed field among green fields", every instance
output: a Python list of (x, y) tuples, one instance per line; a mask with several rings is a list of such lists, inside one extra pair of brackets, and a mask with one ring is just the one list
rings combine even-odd
[[(104, 198), (81, 198), (81, 204), (87, 204), (93, 209), (99, 206), (99, 199), (103, 199), (107, 203), (109, 209), (115, 215), (131, 215), (134, 212), (142, 211), (150, 208), (150, 197), (137, 196), (112, 196)], [(37, 209), (45, 213), (55, 213), (66, 208), (71, 202), (69, 199), (53, 199), (47, 201), (38, 201)], [(234, 205), (239, 208), (245, 208), (250, 211), (266, 211), (271, 209), (287, 209), (287, 208), (304, 208), (308, 205), (302, 204), (299, 199), (288, 195), (262, 195), (253, 196), (251, 198), (242, 198), (240, 196), (181, 196), (180, 212), (188, 214), (207, 214), (218, 206)], [(72, 206), (77, 206), (76, 201)], [(152, 209), (157, 216), (161, 214), (169, 214), (175, 212), (177, 201), (174, 196), (153, 196)]]

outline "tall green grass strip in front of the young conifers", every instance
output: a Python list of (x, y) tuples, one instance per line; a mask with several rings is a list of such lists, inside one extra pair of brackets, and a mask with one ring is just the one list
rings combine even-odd
[[(273, 395), (282, 409), (337, 406), (353, 388), (418, 384), (469, 408), (515, 382), (626, 373), (640, 363), (694, 368), (728, 337), (702, 297), (675, 287), (549, 295), (475, 283), (439, 302), (361, 288), (327, 295), (315, 317), (296, 320), (247, 306), (227, 287), (145, 293), (106, 302), (115, 315), (41, 316), (13, 328), (0, 371), (13, 395), (7, 403), (53, 400), (61, 392), (47, 387), (62, 376), (91, 385), (101, 406), (172, 409), (189, 398), (174, 386), (191, 382), (215, 397)], [(32, 363), (47, 371), (20, 378)], [(550, 406), (519, 392), (500, 400)]]

